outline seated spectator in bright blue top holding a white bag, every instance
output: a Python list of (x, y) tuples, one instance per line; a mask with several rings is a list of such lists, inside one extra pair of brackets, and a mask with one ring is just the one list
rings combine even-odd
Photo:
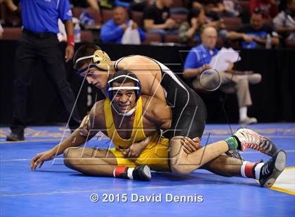
[(138, 29), (140, 41), (145, 41), (145, 32), (143, 29), (140, 29), (136, 22), (130, 21), (131, 20), (128, 19), (127, 12), (123, 7), (114, 8), (114, 18), (105, 22), (101, 27), (101, 40), (105, 43), (120, 44), (126, 29), (132, 23), (132, 29)]

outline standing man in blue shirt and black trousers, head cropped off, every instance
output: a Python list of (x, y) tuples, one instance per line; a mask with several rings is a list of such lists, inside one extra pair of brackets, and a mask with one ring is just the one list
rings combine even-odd
[(72, 11), (68, 0), (21, 0), (22, 35), (15, 52), (15, 82), (13, 86), (13, 124), (8, 141), (24, 140), (26, 127), (27, 90), (31, 85), (32, 66), (41, 59), (44, 69), (60, 96), (67, 113), (72, 113), (70, 128), (79, 126), (80, 118), (74, 107), (74, 94), (65, 76), (63, 56), (58, 38), (58, 18), (65, 23), (67, 48), (65, 62), (74, 55)]

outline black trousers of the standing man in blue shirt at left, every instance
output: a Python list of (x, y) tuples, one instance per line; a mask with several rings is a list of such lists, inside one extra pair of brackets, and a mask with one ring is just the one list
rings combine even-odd
[[(56, 34), (30, 34), (23, 31), (15, 53), (15, 82), (13, 87), (13, 124), (11, 132), (23, 134), (27, 122), (27, 93), (32, 83), (32, 68), (38, 59), (46, 71), (46, 76), (54, 90), (62, 99), (63, 106), (70, 116), (74, 106), (74, 94), (66, 80), (64, 58)], [(41, 82), (41, 81), (40, 81)], [(80, 123), (77, 108), (74, 109), (70, 127)]]

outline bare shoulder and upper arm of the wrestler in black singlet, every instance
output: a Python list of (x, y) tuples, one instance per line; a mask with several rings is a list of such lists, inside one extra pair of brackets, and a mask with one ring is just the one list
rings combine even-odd
[(156, 97), (166, 103), (164, 90), (160, 84), (162, 73), (157, 63), (147, 57), (135, 55), (122, 59), (118, 67), (136, 74), (141, 83), (142, 94)]

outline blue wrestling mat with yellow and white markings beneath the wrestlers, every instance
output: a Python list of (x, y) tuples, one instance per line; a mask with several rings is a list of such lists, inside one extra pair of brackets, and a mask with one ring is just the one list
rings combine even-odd
[[(207, 125), (202, 145), (208, 137), (209, 143), (225, 139), (230, 127)], [(8, 128), (0, 128), (0, 216), (294, 216), (295, 124), (250, 127), (287, 152), (287, 168), (272, 189), (258, 187), (253, 179), (202, 170), (188, 176), (153, 172), (150, 182), (84, 176), (67, 169), (60, 158), (32, 172), (30, 159), (58, 144), (63, 127), (29, 127), (27, 140), (21, 142), (5, 141)], [(92, 140), (88, 146), (104, 147), (105, 141)], [(252, 150), (242, 156), (254, 162), (268, 160)], [(92, 194), (98, 195), (98, 202), (91, 202)], [(103, 194), (108, 202), (103, 202)], [(170, 202), (171, 195), (176, 201), (177, 196), (192, 197), (190, 202)], [(140, 196), (152, 196), (154, 201), (140, 202)], [(92, 199), (97, 200), (96, 195)]]

